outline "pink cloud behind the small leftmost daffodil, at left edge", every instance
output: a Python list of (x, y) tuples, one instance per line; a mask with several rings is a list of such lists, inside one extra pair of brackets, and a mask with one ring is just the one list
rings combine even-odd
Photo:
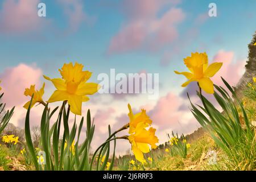
[(3, 101), (8, 107), (24, 104), (27, 101), (23, 94), (25, 88), (32, 84), (36, 84), (37, 88), (42, 86), (40, 77), (42, 77), (42, 70), (35, 65), (19, 64), (16, 67), (6, 68), (0, 74), (2, 91), (5, 93)]

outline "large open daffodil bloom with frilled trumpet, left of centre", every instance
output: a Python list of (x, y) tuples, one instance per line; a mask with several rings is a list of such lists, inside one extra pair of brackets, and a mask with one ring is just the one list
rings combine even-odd
[(75, 63), (75, 65), (73, 63), (64, 64), (59, 69), (62, 78), (51, 79), (44, 76), (57, 89), (48, 102), (68, 101), (72, 113), (81, 115), (82, 102), (89, 100), (86, 95), (92, 95), (100, 88), (100, 85), (96, 83), (86, 82), (92, 76), (92, 72), (82, 71), (82, 68), (84, 66), (78, 63)]

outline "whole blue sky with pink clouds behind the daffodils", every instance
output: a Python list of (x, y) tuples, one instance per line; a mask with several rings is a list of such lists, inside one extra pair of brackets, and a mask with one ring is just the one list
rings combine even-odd
[[(40, 2), (46, 4), (46, 17), (38, 16)], [(217, 16), (210, 17), (212, 2)], [(64, 63), (77, 61), (93, 72), (91, 82), (100, 82), (97, 76), (110, 75), (112, 68), (117, 73), (159, 74), (159, 97), (154, 100), (147, 94), (90, 96), (82, 111), (85, 115), (90, 109), (96, 124), (92, 148), (106, 138), (108, 125), (115, 130), (129, 122), (128, 103), (134, 113), (147, 110), (159, 144), (171, 131), (192, 133), (200, 125), (189, 111), (186, 93), (198, 101), (196, 86), (181, 88), (186, 80), (174, 70), (186, 71), (183, 59), (191, 52), (207, 52), (209, 62), (223, 63), (214, 83), (221, 85), (222, 76), (236, 85), (256, 30), (255, 7), (255, 0), (2, 0), (0, 80), (3, 101), (9, 108), (16, 106), (11, 122), (24, 127), (25, 88), (36, 84), (40, 89), (46, 82), (47, 100), (55, 88), (43, 75), (60, 77)], [(31, 125), (39, 125), (42, 109), (32, 109)], [(117, 152), (125, 154), (129, 148), (129, 142), (119, 142)]]

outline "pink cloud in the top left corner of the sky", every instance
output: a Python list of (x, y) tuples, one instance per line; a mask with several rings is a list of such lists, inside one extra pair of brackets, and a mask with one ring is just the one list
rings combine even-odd
[(0, 32), (7, 34), (38, 31), (47, 20), (38, 16), (39, 0), (8, 0), (0, 11)]

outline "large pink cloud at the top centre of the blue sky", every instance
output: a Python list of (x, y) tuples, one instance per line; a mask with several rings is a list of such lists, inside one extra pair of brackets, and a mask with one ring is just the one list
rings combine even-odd
[(134, 51), (143, 46), (155, 50), (172, 43), (178, 36), (177, 24), (185, 14), (181, 9), (171, 7), (160, 18), (158, 13), (167, 4), (179, 1), (124, 1), (126, 24), (110, 40), (108, 53)]

